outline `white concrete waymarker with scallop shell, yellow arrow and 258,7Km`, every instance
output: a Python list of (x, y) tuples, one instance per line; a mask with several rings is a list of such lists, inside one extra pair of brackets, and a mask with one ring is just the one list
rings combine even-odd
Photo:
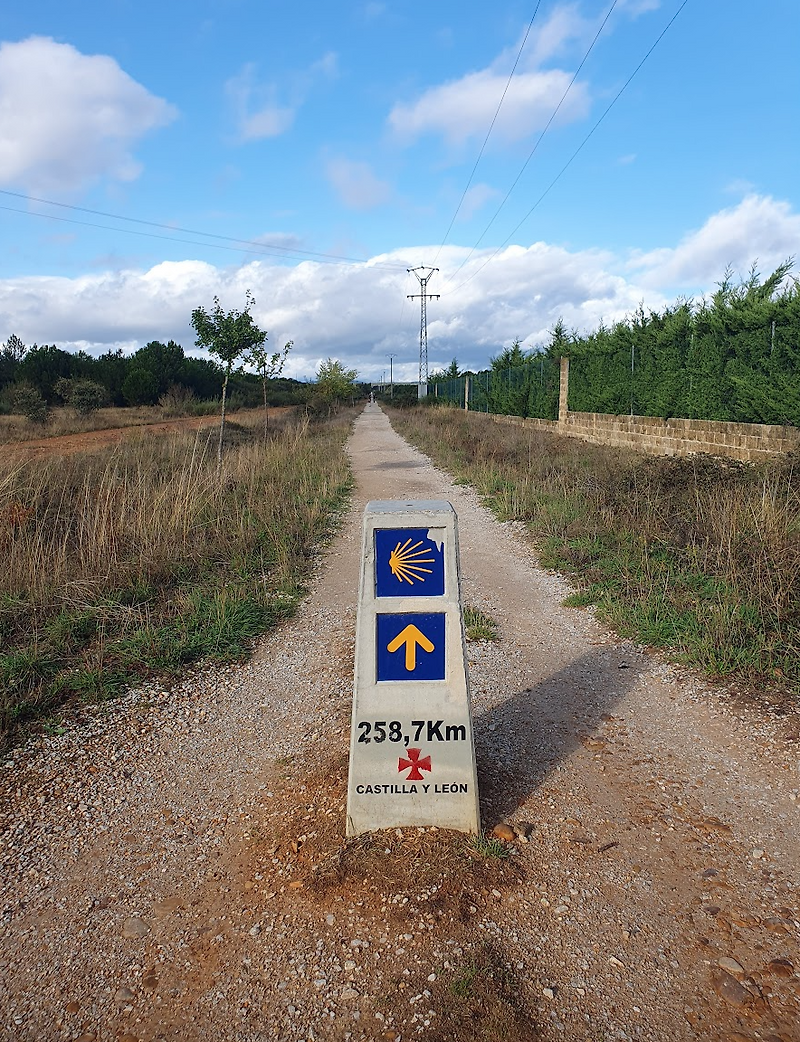
[(480, 832), (455, 511), (383, 500), (364, 515), (347, 835)]

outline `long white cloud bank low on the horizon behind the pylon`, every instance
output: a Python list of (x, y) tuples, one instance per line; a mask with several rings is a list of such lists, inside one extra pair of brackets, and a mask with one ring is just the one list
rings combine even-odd
[[(427, 248), (430, 252), (430, 248)], [(535, 244), (509, 247), (464, 289), (447, 283), (466, 256), (447, 247), (439, 259), (433, 292), (442, 299), (428, 307), (431, 365), (457, 355), (465, 366), (482, 368), (500, 345), (520, 336), (542, 343), (559, 316), (568, 325), (591, 328), (632, 311), (640, 287), (608, 269), (614, 257), (571, 254)], [(405, 271), (426, 248), (398, 250), (367, 265), (304, 262), (284, 267), (255, 260), (239, 269), (199, 262), (169, 263), (145, 271), (69, 278), (17, 278), (0, 281), (0, 328), (25, 343), (57, 343), (90, 351), (149, 340), (181, 343), (194, 349), (192, 309), (218, 294), (224, 307), (240, 307), (249, 289), (254, 316), (270, 342), (293, 340), (288, 375), (312, 376), (320, 358), (341, 357), (365, 377), (386, 367), (396, 354), (398, 379), (414, 379), (418, 359), (419, 306), (405, 300), (418, 289)], [(459, 278), (485, 259), (476, 254)], [(393, 265), (396, 267), (384, 267)], [(661, 298), (650, 295), (653, 303)], [(402, 317), (402, 321), (401, 321)]]

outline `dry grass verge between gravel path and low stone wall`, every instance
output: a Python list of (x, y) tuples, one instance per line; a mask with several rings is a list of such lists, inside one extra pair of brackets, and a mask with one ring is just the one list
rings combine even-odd
[(643, 456), (454, 410), (393, 422), (528, 525), (571, 603), (752, 692), (800, 693), (800, 460)]

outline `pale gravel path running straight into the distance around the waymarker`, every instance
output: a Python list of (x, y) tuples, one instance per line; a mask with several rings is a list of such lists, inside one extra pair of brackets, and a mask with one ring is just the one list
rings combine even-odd
[[(800, 1040), (797, 715), (562, 606), (521, 528), (377, 406), (350, 451), (345, 526), (250, 663), (131, 692), (0, 764), (0, 1038), (489, 1039), (495, 1002), (506, 1042)], [(502, 635), (470, 669), (484, 824), (518, 839), (439, 884), (421, 858), (445, 865), (452, 838), (342, 847), (378, 498), (453, 503), (465, 600)], [(468, 1029), (473, 981), (496, 989)]]

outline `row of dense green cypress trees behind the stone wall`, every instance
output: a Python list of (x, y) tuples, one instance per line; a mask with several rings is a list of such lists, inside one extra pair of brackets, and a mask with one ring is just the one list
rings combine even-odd
[[(800, 426), (800, 283), (791, 269), (786, 260), (765, 279), (752, 269), (739, 283), (728, 271), (707, 298), (640, 306), (588, 334), (559, 320), (543, 348), (516, 341), (471, 374), (470, 407), (555, 419), (566, 354), (573, 412)], [(463, 403), (463, 379), (441, 381), (439, 397)]]

